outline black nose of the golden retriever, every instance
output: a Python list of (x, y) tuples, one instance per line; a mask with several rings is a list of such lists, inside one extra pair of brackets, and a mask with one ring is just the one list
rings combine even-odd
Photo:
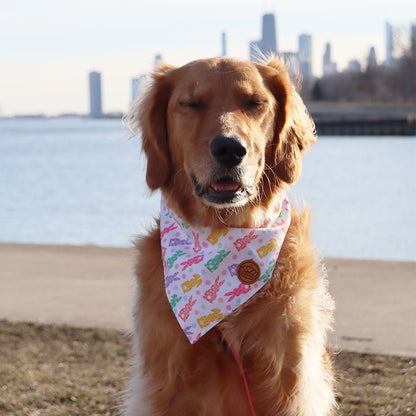
[(234, 137), (216, 137), (211, 142), (210, 150), (215, 160), (228, 169), (237, 166), (247, 154), (244, 143)]

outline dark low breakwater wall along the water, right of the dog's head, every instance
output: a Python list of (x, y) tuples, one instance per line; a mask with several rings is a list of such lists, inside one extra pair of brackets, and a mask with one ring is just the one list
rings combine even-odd
[(320, 136), (416, 136), (416, 105), (308, 103)]

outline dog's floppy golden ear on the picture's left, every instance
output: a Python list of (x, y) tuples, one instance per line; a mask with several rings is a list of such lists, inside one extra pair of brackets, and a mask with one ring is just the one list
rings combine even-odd
[(141, 130), (147, 158), (146, 182), (154, 191), (168, 180), (171, 161), (167, 132), (167, 106), (171, 93), (168, 73), (173, 66), (160, 64), (134, 110), (133, 127)]

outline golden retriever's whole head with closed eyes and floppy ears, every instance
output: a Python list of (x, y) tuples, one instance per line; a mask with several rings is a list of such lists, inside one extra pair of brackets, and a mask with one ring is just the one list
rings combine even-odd
[(160, 66), (133, 109), (146, 181), (188, 221), (260, 226), (301, 172), (314, 125), (285, 66), (230, 58)]

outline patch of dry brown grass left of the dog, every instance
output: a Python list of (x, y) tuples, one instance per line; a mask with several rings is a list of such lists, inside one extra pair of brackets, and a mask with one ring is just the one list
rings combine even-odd
[(0, 415), (116, 415), (128, 358), (117, 331), (0, 321)]

